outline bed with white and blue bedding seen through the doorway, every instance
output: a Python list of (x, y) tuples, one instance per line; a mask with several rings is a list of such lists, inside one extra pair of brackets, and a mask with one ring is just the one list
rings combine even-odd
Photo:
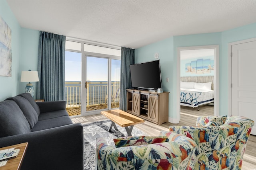
[[(181, 79), (182, 80), (182, 79)], [(209, 80), (204, 80), (209, 81)], [(180, 82), (180, 105), (197, 107), (214, 102), (213, 82)]]

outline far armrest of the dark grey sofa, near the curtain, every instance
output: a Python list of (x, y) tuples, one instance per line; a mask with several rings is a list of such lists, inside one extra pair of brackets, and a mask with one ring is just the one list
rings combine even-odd
[(36, 102), (36, 104), (40, 108), (40, 113), (66, 109), (65, 100), (58, 100), (58, 101), (51, 101), (51, 102)]

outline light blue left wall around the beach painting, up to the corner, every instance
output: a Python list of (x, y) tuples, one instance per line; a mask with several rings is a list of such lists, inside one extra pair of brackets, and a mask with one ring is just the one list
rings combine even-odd
[(0, 101), (15, 96), (19, 91), (20, 25), (6, 0), (0, 0), (0, 16), (12, 30), (12, 76), (0, 76)]

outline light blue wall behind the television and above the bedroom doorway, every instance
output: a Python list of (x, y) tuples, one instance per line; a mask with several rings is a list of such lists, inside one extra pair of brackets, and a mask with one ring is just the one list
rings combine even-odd
[[(221, 33), (174, 36), (135, 50), (135, 61), (141, 63), (154, 60), (159, 53), (163, 90), (169, 94), (169, 117), (176, 119), (177, 47), (220, 45)], [(166, 82), (169, 78), (169, 82)], [(175, 114), (174, 114), (175, 113)]]

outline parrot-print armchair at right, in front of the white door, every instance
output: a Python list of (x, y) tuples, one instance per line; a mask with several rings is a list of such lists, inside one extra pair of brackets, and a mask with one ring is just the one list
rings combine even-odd
[(238, 116), (198, 117), (195, 127), (170, 126), (169, 133), (183, 134), (196, 142), (191, 170), (241, 170), (246, 143), (254, 121)]

